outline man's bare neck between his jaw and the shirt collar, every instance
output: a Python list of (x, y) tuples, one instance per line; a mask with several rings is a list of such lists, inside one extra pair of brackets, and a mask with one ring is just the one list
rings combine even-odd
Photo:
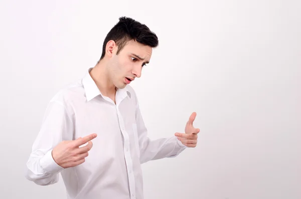
[(105, 60), (99, 61), (95, 67), (90, 71), (90, 75), (94, 80), (96, 86), (102, 95), (110, 97), (116, 93), (116, 88), (110, 80), (108, 71), (108, 63)]

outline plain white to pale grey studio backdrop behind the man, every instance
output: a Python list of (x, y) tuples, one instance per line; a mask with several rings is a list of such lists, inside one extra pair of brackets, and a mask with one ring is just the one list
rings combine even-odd
[(301, 198), (300, 1), (0, 3), (0, 197), (65, 198), (26, 161), (52, 96), (82, 78), (121, 16), (160, 40), (135, 89), (149, 137), (198, 146), (142, 165), (145, 199)]

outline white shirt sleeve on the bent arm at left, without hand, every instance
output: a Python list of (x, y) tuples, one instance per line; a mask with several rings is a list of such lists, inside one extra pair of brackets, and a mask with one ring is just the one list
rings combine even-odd
[(39, 185), (58, 182), (64, 169), (52, 157), (52, 149), (63, 140), (73, 137), (73, 125), (66, 107), (51, 101), (46, 109), (42, 126), (36, 137), (26, 164), (25, 177)]

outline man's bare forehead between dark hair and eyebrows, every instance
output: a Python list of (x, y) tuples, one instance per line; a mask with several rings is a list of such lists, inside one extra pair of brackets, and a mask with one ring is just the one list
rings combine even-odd
[(150, 59), (150, 56), (152, 56), (153, 48), (130, 40), (125, 44), (122, 51), (126, 54), (135, 54), (139, 57)]

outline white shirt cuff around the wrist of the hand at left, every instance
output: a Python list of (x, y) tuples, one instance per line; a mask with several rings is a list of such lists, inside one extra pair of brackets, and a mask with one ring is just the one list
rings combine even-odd
[(40, 159), (40, 166), (47, 172), (47, 173), (58, 173), (64, 168), (58, 165), (53, 157), (52, 157), (52, 149), (49, 150), (41, 159)]

